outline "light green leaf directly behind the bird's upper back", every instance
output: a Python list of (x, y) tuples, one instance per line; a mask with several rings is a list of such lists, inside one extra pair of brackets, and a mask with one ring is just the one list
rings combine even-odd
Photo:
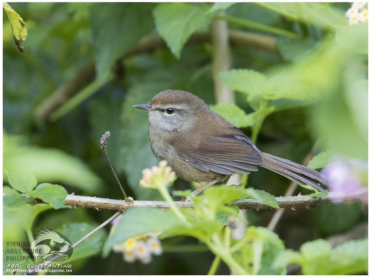
[(254, 113), (247, 115), (244, 110), (233, 103), (218, 103), (217, 105), (210, 105), (210, 109), (214, 110), (223, 118), (229, 120), (232, 125), (237, 128), (253, 126), (256, 122), (256, 115)]

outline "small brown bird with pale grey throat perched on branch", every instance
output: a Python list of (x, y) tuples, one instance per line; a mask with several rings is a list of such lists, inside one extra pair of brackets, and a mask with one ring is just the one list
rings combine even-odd
[(270, 155), (197, 96), (165, 90), (150, 103), (134, 107), (148, 110), (152, 152), (167, 160), (177, 176), (188, 182), (207, 182), (196, 195), (216, 182), (226, 183), (233, 173), (250, 173), (262, 166), (301, 185), (329, 185), (323, 174), (288, 159)]

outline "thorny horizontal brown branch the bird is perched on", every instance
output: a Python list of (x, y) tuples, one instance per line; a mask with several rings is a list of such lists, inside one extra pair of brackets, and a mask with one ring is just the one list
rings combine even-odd
[[(361, 188), (358, 191), (347, 195), (347, 201), (364, 199), (368, 196), (368, 187)], [(310, 208), (319, 205), (325, 205), (331, 202), (342, 202), (344, 195), (342, 192), (330, 192), (324, 199), (313, 198), (309, 195), (298, 195), (290, 197), (276, 197), (280, 208)], [(174, 202), (177, 206), (192, 207), (192, 202)], [(153, 206), (160, 209), (170, 209), (170, 206), (165, 201), (133, 201), (132, 204), (126, 203), (124, 200), (106, 199), (89, 196), (79, 196), (70, 194), (66, 197), (65, 205), (71, 206), (86, 206), (96, 209), (114, 209), (116, 211), (126, 211), (130, 207), (135, 206)], [(234, 202), (232, 205), (238, 206), (240, 209), (267, 209), (271, 208), (263, 202), (253, 199), (241, 199)]]

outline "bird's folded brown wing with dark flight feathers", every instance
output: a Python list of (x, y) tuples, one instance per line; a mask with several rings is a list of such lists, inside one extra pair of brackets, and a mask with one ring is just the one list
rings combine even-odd
[[(182, 159), (204, 172), (225, 175), (233, 172), (250, 173), (258, 170), (256, 165), (262, 164), (260, 150), (247, 136), (205, 136), (197, 145), (196, 150), (186, 146), (175, 149)], [(187, 152), (187, 149), (193, 151)]]

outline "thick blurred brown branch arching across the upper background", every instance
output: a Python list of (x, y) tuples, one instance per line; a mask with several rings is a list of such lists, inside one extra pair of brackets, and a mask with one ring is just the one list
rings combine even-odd
[[(229, 43), (233, 47), (248, 47), (267, 52), (279, 53), (276, 46), (276, 37), (260, 35), (256, 33), (230, 30), (228, 33)], [(199, 44), (211, 42), (211, 34), (207, 31), (194, 32), (187, 44)], [(123, 55), (119, 61), (141, 53), (151, 53), (157, 49), (167, 47), (160, 36), (147, 35), (142, 37), (138, 45)], [(36, 108), (36, 116), (48, 120), (52, 112), (61, 107), (71, 97), (86, 87), (95, 77), (95, 62), (89, 62), (68, 83), (55, 90), (43, 103)]]

